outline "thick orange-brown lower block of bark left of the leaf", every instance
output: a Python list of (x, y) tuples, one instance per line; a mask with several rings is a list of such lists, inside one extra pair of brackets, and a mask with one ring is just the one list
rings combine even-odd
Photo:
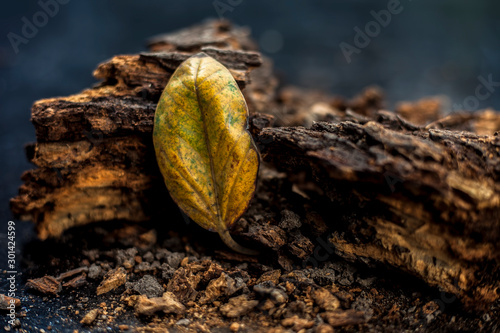
[[(101, 109), (101, 115), (104, 112)], [(128, 116), (132, 124), (135, 115)], [(131, 128), (142, 131), (139, 127), (144, 126), (151, 132), (153, 117), (154, 112), (141, 120), (142, 125)], [(255, 114), (250, 118), (250, 130), (258, 133), (270, 121), (269, 116)], [(73, 130), (71, 135), (77, 133)], [(99, 130), (108, 131), (103, 126)], [(96, 221), (147, 221), (175, 209), (158, 170), (151, 138), (131, 135), (94, 143), (39, 142), (31, 148), (29, 159), (39, 169), (23, 174), (24, 184), (11, 199), (11, 209), (16, 217), (33, 220), (41, 239)]]

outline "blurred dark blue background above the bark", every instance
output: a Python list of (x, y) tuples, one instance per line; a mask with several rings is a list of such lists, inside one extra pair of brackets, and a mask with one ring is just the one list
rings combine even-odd
[[(50, 16), (40, 14), (48, 6), (43, 4), (53, 1), (59, 8), (47, 7)], [(390, 13), (388, 6), (390, 18), (383, 14)], [(152, 35), (224, 17), (251, 28), (282, 83), (345, 97), (377, 85), (385, 91), (389, 108), (400, 100), (445, 95), (451, 111), (453, 105), (474, 98), (481, 84), (478, 77), (500, 82), (499, 13), (500, 2), (493, 0), (4, 2), (0, 225), (12, 219), (9, 198), (17, 193), (21, 173), (31, 168), (24, 144), (35, 140), (29, 122), (32, 103), (91, 86), (98, 63), (145, 50), (145, 40)], [(36, 32), (23, 28), (26, 21), (40, 27)], [(466, 108), (499, 110), (500, 84), (489, 88), (487, 98)], [(18, 242), (33, 237), (31, 224), (17, 225), (22, 231)], [(6, 226), (0, 229), (3, 238), (5, 232)], [(0, 253), (4, 251), (2, 246)]]

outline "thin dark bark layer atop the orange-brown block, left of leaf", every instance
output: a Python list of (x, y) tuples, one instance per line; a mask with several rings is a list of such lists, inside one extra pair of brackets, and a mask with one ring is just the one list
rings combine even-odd
[(152, 132), (155, 102), (135, 96), (114, 97), (102, 89), (93, 95), (87, 90), (35, 102), (31, 122), (37, 141), (82, 140), (99, 146), (104, 138)]

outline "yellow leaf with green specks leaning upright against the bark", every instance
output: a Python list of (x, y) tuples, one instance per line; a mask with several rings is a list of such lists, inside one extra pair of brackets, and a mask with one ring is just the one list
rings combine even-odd
[(184, 61), (165, 87), (153, 143), (177, 205), (233, 250), (256, 254), (228, 231), (255, 192), (259, 155), (247, 123), (247, 105), (231, 73), (199, 53)]

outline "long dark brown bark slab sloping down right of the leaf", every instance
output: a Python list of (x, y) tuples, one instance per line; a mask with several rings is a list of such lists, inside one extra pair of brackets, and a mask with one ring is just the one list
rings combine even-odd
[(379, 113), (364, 124), (266, 128), (260, 141), (264, 160), (306, 170), (343, 212), (330, 238), (339, 254), (407, 270), (466, 303), (498, 299), (498, 137)]

